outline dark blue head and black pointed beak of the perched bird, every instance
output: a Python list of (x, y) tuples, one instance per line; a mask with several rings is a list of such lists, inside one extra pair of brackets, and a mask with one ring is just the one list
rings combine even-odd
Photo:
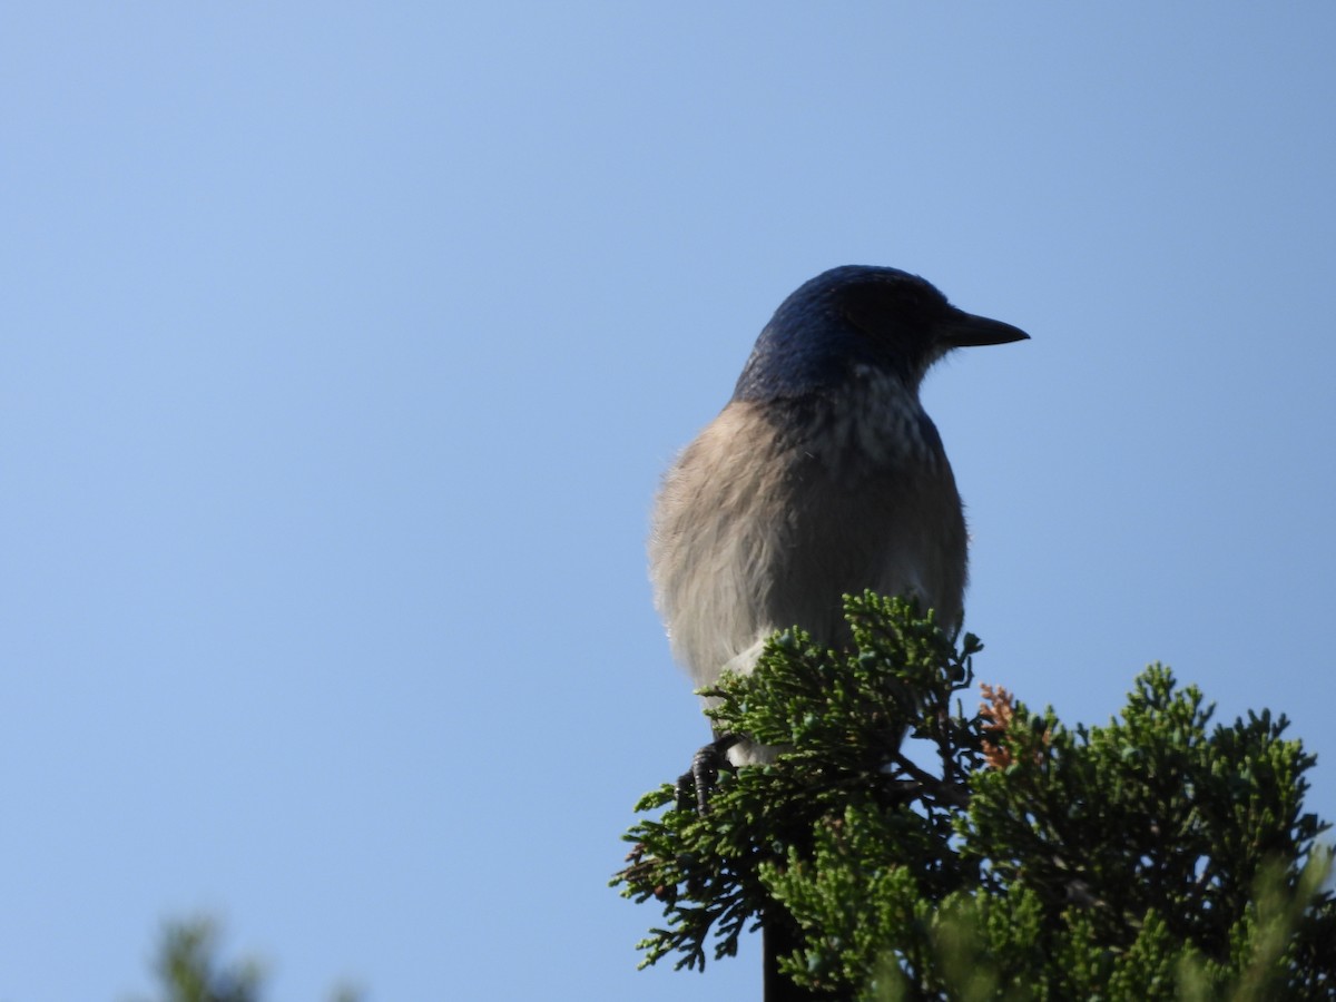
[(1009, 323), (955, 309), (918, 275), (846, 265), (818, 275), (780, 303), (756, 339), (733, 399), (819, 394), (868, 367), (916, 393), (929, 367), (951, 349), (1027, 337)]

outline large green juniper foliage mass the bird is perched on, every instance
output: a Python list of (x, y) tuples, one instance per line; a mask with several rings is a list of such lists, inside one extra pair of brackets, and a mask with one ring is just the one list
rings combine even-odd
[(724, 771), (705, 814), (673, 784), (637, 804), (613, 884), (663, 908), (644, 965), (703, 970), (772, 921), (818, 997), (1336, 998), (1329, 826), (1283, 716), (1212, 725), (1160, 665), (1105, 727), (989, 687), (967, 715), (975, 637), (871, 593), (846, 613), (852, 653), (795, 628), (705, 693), (774, 764)]

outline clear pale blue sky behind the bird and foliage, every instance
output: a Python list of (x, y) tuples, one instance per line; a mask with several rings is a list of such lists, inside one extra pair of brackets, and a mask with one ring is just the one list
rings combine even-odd
[(705, 736), (657, 478), (799, 283), (1025, 327), (925, 399), (983, 680), (1329, 712), (1336, 8), (0, 15), (0, 998), (219, 915), (271, 997), (755, 997), (605, 887)]

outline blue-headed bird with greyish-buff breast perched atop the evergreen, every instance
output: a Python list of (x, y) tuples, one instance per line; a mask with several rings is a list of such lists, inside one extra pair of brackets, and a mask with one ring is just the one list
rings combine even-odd
[[(846, 647), (843, 596), (864, 589), (912, 596), (959, 631), (965, 513), (919, 387), (955, 349), (1027, 338), (892, 267), (835, 267), (780, 303), (655, 501), (655, 603), (697, 688), (748, 672), (794, 625)], [(775, 756), (724, 739), (732, 766)]]

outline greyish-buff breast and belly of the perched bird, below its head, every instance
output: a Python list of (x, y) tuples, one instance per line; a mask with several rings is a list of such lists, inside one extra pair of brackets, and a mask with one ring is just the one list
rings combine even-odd
[(941, 440), (916, 398), (866, 381), (855, 397), (735, 401), (664, 480), (651, 574), (673, 653), (709, 684), (800, 625), (847, 639), (842, 596), (915, 593), (954, 628), (966, 534)]

